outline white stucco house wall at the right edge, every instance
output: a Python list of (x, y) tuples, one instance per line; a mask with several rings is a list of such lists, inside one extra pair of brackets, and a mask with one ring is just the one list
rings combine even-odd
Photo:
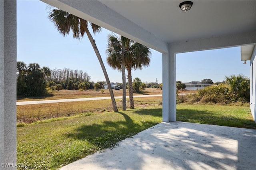
[(254, 47), (252, 57), (250, 60), (250, 109), (252, 117), (256, 122), (256, 47)]

